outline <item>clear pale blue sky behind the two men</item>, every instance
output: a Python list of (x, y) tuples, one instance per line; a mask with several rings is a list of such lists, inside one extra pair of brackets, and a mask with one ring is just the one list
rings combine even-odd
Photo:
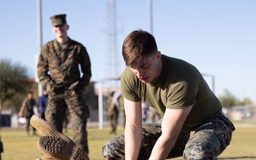
[[(193, 64), (215, 77), (215, 94), (227, 89), (238, 99), (256, 100), (255, 0), (152, 0), (153, 35), (162, 54)], [(42, 0), (42, 42), (55, 38), (49, 19), (67, 14), (68, 36), (84, 44), (92, 81), (104, 79), (107, 0)], [(122, 42), (135, 29), (148, 31), (147, 0), (116, 0), (117, 61), (125, 68)], [(37, 1), (0, 4), (0, 58), (9, 58), (35, 77), (38, 50)], [(212, 79), (205, 76), (210, 87)]]

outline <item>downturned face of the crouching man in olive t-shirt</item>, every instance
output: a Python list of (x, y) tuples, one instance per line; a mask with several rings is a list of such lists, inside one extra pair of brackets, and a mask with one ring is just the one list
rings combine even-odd
[(142, 81), (143, 83), (154, 82), (160, 75), (162, 70), (161, 52), (157, 52), (144, 58), (143, 63), (138, 61), (129, 66), (131, 71)]

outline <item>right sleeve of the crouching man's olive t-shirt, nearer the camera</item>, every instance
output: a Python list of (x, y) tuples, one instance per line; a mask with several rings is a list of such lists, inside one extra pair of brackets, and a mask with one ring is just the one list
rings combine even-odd
[(195, 105), (195, 96), (198, 92), (197, 79), (183, 81), (168, 91), (167, 105), (169, 109), (180, 109)]

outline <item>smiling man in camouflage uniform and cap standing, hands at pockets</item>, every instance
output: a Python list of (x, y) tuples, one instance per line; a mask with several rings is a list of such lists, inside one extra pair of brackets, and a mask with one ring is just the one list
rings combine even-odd
[(62, 132), (68, 108), (73, 140), (88, 153), (86, 123), (90, 113), (83, 98), (83, 90), (91, 77), (90, 58), (82, 44), (67, 36), (69, 26), (66, 15), (55, 15), (50, 19), (56, 39), (44, 45), (38, 59), (38, 78), (49, 96), (45, 118)]

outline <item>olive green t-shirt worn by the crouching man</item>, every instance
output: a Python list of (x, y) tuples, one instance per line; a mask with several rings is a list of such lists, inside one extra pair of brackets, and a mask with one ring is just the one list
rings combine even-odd
[(193, 105), (183, 127), (193, 127), (221, 111), (221, 103), (201, 73), (186, 61), (161, 55), (162, 71), (153, 83), (143, 83), (126, 67), (121, 76), (121, 92), (132, 101), (144, 100), (162, 116), (166, 108)]

